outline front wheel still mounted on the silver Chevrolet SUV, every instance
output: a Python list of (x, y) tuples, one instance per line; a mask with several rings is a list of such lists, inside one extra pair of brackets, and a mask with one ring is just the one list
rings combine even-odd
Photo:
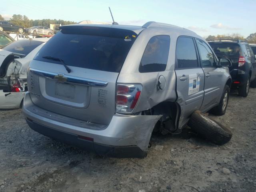
[(220, 103), (216, 107), (212, 108), (210, 110), (210, 113), (218, 116), (224, 115), (226, 113), (226, 109), (228, 106), (229, 92), (230, 92), (229, 86), (225, 85), (224, 91), (222, 93), (222, 97), (220, 99)]

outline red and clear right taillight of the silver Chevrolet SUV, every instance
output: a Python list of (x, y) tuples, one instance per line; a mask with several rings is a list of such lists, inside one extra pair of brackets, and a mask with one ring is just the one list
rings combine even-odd
[(140, 84), (117, 84), (116, 112), (131, 113), (138, 103), (141, 91)]

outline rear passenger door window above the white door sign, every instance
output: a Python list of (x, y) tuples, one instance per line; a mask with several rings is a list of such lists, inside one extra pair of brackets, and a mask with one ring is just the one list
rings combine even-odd
[(194, 41), (190, 37), (179, 37), (176, 45), (178, 68), (196, 68), (198, 61)]

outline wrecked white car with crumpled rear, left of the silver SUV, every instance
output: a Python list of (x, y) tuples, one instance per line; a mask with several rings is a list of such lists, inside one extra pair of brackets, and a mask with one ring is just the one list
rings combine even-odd
[(0, 49), (0, 109), (22, 106), (28, 65), (48, 40), (18, 40)]

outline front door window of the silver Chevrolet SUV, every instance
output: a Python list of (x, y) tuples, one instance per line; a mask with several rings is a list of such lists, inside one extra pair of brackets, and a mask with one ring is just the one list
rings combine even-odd
[(214, 61), (214, 55), (208, 45), (200, 40), (196, 39), (196, 44), (198, 46), (198, 51), (201, 57), (201, 66), (202, 67), (212, 67), (215, 66), (215, 61)]

